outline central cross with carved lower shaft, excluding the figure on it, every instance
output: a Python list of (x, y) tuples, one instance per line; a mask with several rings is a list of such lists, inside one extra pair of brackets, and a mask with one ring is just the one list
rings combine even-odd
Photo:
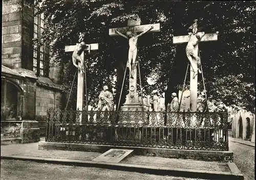
[[(133, 20), (129, 19), (127, 23), (127, 27), (122, 28), (112, 28), (109, 29), (110, 36), (118, 36), (119, 34), (116, 33), (116, 30), (124, 33), (127, 31), (133, 32), (135, 35), (138, 32), (144, 32), (145, 30), (149, 29), (153, 26), (153, 29), (147, 32), (159, 32), (160, 31), (160, 24), (148, 24), (148, 25), (140, 25), (140, 20)], [(138, 57), (138, 55), (137, 55)], [(133, 78), (132, 78), (133, 77)], [(125, 104), (140, 104), (139, 103), (139, 96), (137, 93), (137, 66), (135, 64), (133, 71), (130, 70), (130, 79), (129, 79), (129, 95), (126, 96)]]

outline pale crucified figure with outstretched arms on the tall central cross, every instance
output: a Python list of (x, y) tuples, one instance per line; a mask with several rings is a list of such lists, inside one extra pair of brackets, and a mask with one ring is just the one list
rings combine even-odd
[[(120, 33), (119, 31), (116, 31), (117, 34), (119, 34), (120, 36), (129, 39), (129, 54), (128, 54), (128, 62), (127, 62), (127, 67), (129, 68), (129, 70), (132, 72), (133, 69), (133, 64), (135, 64), (136, 58), (137, 58), (137, 41), (138, 41), (138, 37), (140, 37), (141, 35), (143, 35), (144, 33), (146, 33), (147, 31), (152, 30), (154, 27), (151, 26), (150, 28), (148, 28), (147, 30), (143, 31), (142, 33), (140, 33), (139, 35), (135, 35), (133, 32), (131, 31), (127, 31), (125, 36), (122, 33)], [(132, 73), (131, 73), (132, 74)]]

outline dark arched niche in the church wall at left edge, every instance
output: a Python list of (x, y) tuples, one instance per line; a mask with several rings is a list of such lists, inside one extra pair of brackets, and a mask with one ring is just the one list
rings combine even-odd
[(1, 120), (21, 120), (23, 91), (14, 81), (2, 77)]

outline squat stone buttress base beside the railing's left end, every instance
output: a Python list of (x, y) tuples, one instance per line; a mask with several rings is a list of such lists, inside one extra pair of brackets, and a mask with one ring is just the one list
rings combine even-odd
[(23, 120), (20, 128), (22, 143), (35, 143), (40, 141), (40, 128), (37, 121)]

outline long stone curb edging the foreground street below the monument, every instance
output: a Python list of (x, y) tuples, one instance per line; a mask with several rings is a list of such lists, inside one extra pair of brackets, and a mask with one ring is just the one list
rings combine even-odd
[(204, 179), (241, 179), (244, 180), (244, 176), (238, 170), (234, 163), (229, 163), (228, 166), (231, 172), (221, 171), (207, 171), (196, 169), (181, 169), (171, 167), (157, 167), (157, 166), (144, 166), (135, 164), (123, 164), (123, 163), (108, 163), (108, 162), (95, 162), (87, 160), (72, 160), (72, 159), (56, 159), (56, 158), (42, 158), (34, 156), (23, 155), (9, 155), (1, 156), (1, 160), (20, 160), (20, 161), (33, 161), (37, 163), (49, 163), (49, 164), (61, 164), (61, 165), (75, 165), (82, 167), (96, 167), (112, 170), (133, 171), (148, 174), (157, 175), (172, 175), (179, 177), (190, 178), (204, 178)]

